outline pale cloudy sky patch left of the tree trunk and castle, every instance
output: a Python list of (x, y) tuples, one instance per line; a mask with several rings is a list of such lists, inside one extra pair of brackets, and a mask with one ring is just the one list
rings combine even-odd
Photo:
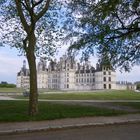
[(12, 49), (0, 49), (0, 81), (16, 83), (16, 74), (22, 66), (24, 57), (18, 57)]

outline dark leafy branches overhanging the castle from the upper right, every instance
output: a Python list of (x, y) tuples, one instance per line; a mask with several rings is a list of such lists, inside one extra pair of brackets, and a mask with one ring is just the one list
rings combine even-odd
[(140, 63), (138, 0), (73, 0), (69, 7), (75, 11), (71, 20), (75, 19), (75, 28), (68, 36), (77, 37), (69, 50), (84, 49), (89, 55), (96, 48), (99, 54), (107, 52), (112, 64), (125, 70)]

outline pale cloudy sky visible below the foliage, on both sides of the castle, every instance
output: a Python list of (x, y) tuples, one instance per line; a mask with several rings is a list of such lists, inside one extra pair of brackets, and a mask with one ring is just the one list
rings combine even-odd
[[(56, 57), (62, 56), (66, 49), (66, 47), (60, 48)], [(16, 49), (0, 47), (0, 82), (7, 81), (8, 83), (16, 84), (17, 72), (20, 71), (23, 60), (26, 60), (26, 58), (24, 56), (19, 56)], [(93, 58), (91, 63), (95, 66), (96, 62), (97, 58)], [(116, 70), (116, 76), (117, 81), (140, 81), (140, 66), (134, 66), (130, 73), (121, 73), (119, 70)]]

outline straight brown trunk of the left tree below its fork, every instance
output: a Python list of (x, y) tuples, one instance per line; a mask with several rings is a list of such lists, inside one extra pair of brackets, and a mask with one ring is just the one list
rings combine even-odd
[(29, 95), (29, 115), (35, 116), (38, 113), (38, 89), (37, 89), (37, 71), (36, 58), (34, 54), (36, 38), (34, 33), (29, 37), (27, 49), (27, 60), (30, 69), (30, 95)]

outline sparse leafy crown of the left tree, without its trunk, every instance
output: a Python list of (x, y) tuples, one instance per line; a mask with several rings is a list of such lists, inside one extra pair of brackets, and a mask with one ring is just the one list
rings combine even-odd
[[(56, 42), (58, 42), (62, 36), (62, 30), (59, 28), (59, 19), (62, 17), (62, 13), (60, 12), (60, 14), (58, 14), (62, 4), (57, 4), (56, 1), (53, 0), (53, 2), (49, 4), (48, 11), (44, 13), (45, 11), (43, 12), (42, 7), (44, 7), (46, 2), (47, 0), (23, 0), (18, 2), (19, 4), (21, 3), (21, 10), (23, 10), (24, 20), (26, 20), (26, 27), (22, 24), (22, 22), (25, 22), (23, 19), (21, 22), (15, 0), (2, 0), (0, 2), (1, 45), (16, 47), (20, 50), (21, 54), (25, 54), (23, 45), (27, 42), (27, 30), (30, 28), (31, 22), (34, 22), (36, 56), (52, 56), (60, 45)], [(39, 11), (41, 12), (39, 13)], [(42, 16), (43, 13), (44, 15)]]

